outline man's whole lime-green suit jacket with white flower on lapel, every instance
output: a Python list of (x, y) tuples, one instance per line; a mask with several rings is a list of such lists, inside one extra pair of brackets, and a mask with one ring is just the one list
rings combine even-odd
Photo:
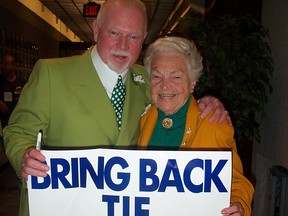
[[(134, 80), (135, 75), (145, 83)], [(39, 129), (43, 130), (43, 147), (49, 148), (136, 145), (140, 116), (149, 103), (148, 76), (142, 66), (135, 65), (128, 73), (119, 131), (90, 50), (81, 56), (39, 60), (4, 129), (6, 154), (21, 175), (23, 154), (35, 146)], [(28, 215), (25, 188), (20, 215)]]

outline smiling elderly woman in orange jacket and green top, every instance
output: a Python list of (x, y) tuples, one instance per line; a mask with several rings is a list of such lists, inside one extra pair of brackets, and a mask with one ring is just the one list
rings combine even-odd
[(231, 206), (222, 215), (251, 215), (254, 188), (243, 176), (241, 160), (227, 123), (209, 123), (192, 96), (201, 75), (195, 44), (179, 37), (158, 39), (144, 59), (154, 102), (141, 119), (138, 145), (152, 148), (229, 148), (233, 154)]

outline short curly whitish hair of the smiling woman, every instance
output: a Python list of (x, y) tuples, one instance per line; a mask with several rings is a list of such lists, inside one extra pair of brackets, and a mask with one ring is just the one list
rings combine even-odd
[(189, 67), (189, 77), (193, 81), (197, 81), (202, 74), (202, 56), (197, 50), (197, 47), (193, 41), (182, 37), (164, 37), (159, 38), (152, 43), (145, 54), (144, 66), (150, 75), (151, 73), (151, 61), (154, 56), (160, 52), (179, 52), (187, 56), (187, 62)]

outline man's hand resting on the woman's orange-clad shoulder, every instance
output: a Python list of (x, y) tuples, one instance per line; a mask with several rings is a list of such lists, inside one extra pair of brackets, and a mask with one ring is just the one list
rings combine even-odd
[(229, 113), (225, 110), (224, 105), (217, 98), (213, 96), (205, 96), (198, 100), (198, 106), (202, 110), (202, 119), (204, 119), (210, 112), (213, 112), (213, 115), (209, 119), (210, 123), (216, 121), (216, 119), (219, 118), (219, 124), (227, 121), (227, 123), (232, 126), (232, 121)]

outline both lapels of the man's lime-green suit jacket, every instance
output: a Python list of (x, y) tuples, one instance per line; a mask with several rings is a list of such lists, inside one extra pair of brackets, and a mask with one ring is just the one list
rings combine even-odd
[[(128, 72), (120, 131), (115, 111), (94, 68), (90, 51), (80, 57), (78, 70), (79, 73), (76, 73), (78, 77), (71, 79), (73, 90), (75, 90), (75, 94), (78, 94), (83, 106), (86, 106), (91, 113), (91, 118), (94, 118), (95, 122), (102, 128), (99, 133), (102, 133), (102, 136), (109, 137), (110, 143), (107, 144), (117, 146), (136, 144), (139, 135), (140, 116), (150, 102), (147, 75), (143, 74), (143, 68), (139, 68), (140, 72), (138, 69), (137, 72), (134, 69), (130, 69)], [(133, 73), (141, 73), (145, 83), (135, 83)]]

